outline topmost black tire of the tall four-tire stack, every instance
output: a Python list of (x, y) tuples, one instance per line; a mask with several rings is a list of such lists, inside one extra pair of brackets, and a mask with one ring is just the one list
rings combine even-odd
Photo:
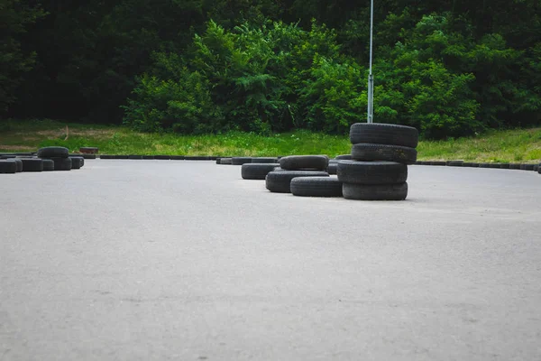
[(350, 141), (356, 143), (376, 143), (417, 147), (419, 132), (406, 125), (381, 123), (355, 123), (350, 127)]

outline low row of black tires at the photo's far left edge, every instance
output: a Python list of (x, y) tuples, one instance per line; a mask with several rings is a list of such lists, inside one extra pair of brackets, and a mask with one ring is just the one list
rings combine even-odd
[(20, 171), (71, 171), (85, 165), (85, 159), (76, 154), (69, 154), (68, 148), (45, 147), (37, 154), (0, 155), (0, 173)]

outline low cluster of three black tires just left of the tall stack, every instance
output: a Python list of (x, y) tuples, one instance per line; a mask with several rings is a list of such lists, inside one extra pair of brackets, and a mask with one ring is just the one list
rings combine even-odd
[[(291, 155), (280, 158), (280, 168), (267, 173), (265, 186), (274, 193), (293, 193), (298, 196), (324, 197), (333, 189), (327, 180), (329, 158), (326, 155)], [(293, 184), (294, 179), (302, 178)], [(307, 180), (307, 178), (312, 178)], [(337, 180), (335, 180), (337, 181)], [(295, 192), (293, 192), (295, 191)]]

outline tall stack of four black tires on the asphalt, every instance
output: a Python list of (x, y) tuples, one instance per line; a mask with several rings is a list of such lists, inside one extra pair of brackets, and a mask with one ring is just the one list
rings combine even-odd
[(417, 161), (417, 129), (356, 123), (350, 128), (350, 141), (352, 160), (339, 160), (336, 166), (344, 199), (406, 199), (408, 164)]

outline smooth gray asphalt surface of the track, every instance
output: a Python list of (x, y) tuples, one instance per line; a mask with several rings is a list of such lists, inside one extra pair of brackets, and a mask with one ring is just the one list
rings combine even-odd
[(540, 360), (541, 176), (309, 199), (214, 162), (0, 174), (0, 360)]

